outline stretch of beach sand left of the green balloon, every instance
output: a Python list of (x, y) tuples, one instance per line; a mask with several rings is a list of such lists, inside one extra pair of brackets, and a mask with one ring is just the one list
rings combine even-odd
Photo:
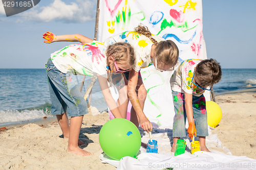
[(94, 153), (86, 157), (66, 151), (68, 141), (63, 141), (56, 118), (8, 126), (0, 130), (0, 169), (116, 169), (99, 159), (99, 131), (108, 120), (106, 112), (84, 115), (79, 138), (87, 144), (81, 148)]

